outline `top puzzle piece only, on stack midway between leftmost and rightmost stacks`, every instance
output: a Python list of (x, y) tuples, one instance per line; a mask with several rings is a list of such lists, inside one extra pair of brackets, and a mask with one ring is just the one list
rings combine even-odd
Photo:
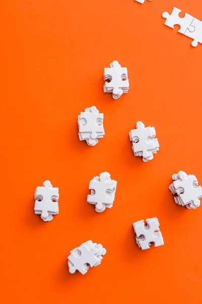
[(94, 195), (90, 194), (87, 196), (87, 202), (96, 204), (97, 210), (102, 210), (103, 204), (113, 203), (113, 196), (107, 195), (107, 192), (113, 192), (114, 181), (108, 178), (106, 172), (99, 175), (99, 180), (91, 180), (89, 183), (89, 189), (94, 190), (95, 193)]

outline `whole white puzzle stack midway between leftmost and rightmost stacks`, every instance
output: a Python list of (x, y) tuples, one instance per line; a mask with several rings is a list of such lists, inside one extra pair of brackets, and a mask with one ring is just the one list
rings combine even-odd
[(87, 202), (95, 205), (96, 212), (103, 212), (106, 208), (112, 208), (115, 200), (117, 181), (110, 178), (110, 173), (103, 172), (93, 177), (89, 183), (90, 195)]

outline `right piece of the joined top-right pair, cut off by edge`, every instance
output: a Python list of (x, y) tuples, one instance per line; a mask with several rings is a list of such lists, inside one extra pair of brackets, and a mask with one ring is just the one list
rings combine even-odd
[(196, 18), (190, 24), (192, 29), (187, 28), (184, 35), (192, 38), (192, 47), (197, 47), (198, 42), (202, 44), (202, 22)]

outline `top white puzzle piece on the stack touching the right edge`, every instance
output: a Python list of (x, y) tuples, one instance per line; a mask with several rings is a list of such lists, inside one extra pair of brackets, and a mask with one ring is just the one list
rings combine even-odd
[[(197, 179), (194, 175), (187, 175), (180, 171), (178, 180), (173, 182), (176, 193), (179, 195), (183, 205), (193, 203), (195, 207), (200, 205), (200, 198), (202, 198), (202, 188), (197, 185)], [(183, 193), (181, 193), (183, 190)], [(193, 206), (193, 207), (194, 207)]]

